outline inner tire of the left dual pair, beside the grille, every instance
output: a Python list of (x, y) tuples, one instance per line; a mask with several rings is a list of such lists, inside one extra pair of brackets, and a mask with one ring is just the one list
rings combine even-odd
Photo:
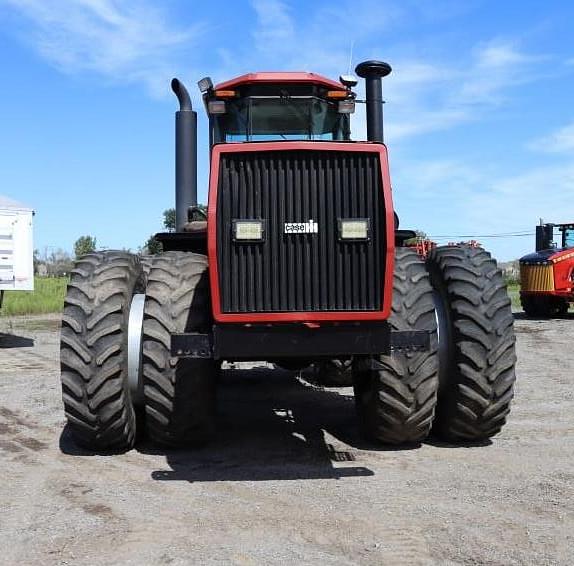
[(200, 445), (215, 430), (217, 371), (210, 359), (173, 358), (171, 335), (210, 331), (207, 258), (165, 252), (150, 264), (143, 324), (143, 383), (150, 438)]

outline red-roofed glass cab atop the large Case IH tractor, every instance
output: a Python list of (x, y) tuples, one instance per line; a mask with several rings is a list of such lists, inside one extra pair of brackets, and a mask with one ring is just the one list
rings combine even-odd
[(210, 145), (233, 142), (348, 141), (356, 81), (315, 73), (250, 73), (199, 88), (209, 116)]

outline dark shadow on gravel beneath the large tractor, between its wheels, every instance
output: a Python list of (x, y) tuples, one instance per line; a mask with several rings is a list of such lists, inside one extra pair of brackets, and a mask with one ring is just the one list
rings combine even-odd
[[(225, 370), (219, 387), (219, 430), (207, 446), (157, 451), (171, 468), (158, 481), (268, 481), (373, 476), (354, 464), (354, 449), (377, 450), (359, 435), (353, 397), (312, 387), (283, 370)], [(347, 447), (335, 448), (324, 431)]]

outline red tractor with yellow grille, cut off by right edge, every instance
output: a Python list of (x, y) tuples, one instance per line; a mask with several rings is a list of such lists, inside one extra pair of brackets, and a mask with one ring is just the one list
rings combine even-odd
[(520, 258), (520, 302), (528, 316), (568, 312), (574, 302), (574, 223), (536, 226), (536, 251)]

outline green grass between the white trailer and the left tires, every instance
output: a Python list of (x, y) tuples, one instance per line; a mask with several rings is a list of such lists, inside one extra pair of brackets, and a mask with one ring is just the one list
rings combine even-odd
[(67, 277), (36, 277), (34, 291), (6, 291), (0, 316), (62, 312)]

